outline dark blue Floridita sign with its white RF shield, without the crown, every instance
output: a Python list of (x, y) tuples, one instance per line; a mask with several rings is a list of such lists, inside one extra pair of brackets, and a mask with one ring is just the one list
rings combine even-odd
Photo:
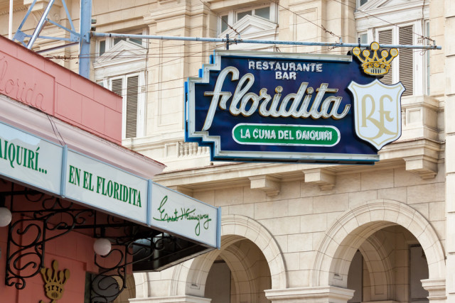
[(351, 56), (211, 60), (186, 83), (186, 141), (209, 145), (212, 160), (373, 163), (400, 136), (404, 89), (365, 75)]

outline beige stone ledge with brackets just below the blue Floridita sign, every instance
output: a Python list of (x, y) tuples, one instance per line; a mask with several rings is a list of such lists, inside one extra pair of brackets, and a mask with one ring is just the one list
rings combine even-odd
[[(380, 151), (380, 162), (374, 166), (215, 162), (215, 165), (161, 173), (154, 177), (154, 181), (167, 187), (185, 186), (193, 191), (250, 185), (252, 189), (271, 194), (279, 188), (280, 182), (301, 180), (317, 184), (321, 190), (329, 190), (335, 186), (337, 175), (373, 170), (402, 168), (424, 179), (434, 177), (437, 165), (444, 162), (443, 151), (444, 145), (421, 138), (387, 145)], [(259, 181), (252, 185), (252, 179), (257, 176), (262, 176), (264, 186), (259, 186)]]

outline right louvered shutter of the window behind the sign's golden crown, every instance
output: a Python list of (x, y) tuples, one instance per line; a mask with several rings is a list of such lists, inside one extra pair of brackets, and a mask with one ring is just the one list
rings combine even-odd
[[(402, 45), (412, 45), (412, 26), (404, 26), (400, 28), (399, 40)], [(402, 48), (400, 50), (400, 81), (406, 88), (403, 96), (414, 94), (414, 75), (413, 75), (413, 60), (412, 49)]]

